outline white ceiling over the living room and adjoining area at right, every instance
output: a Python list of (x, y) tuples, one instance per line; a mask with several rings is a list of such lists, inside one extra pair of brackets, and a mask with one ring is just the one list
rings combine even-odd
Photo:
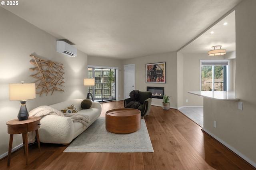
[[(19, 0), (2, 7), (88, 55), (129, 59), (181, 49), (241, 1)], [(226, 20), (180, 52), (234, 51), (234, 14)]]

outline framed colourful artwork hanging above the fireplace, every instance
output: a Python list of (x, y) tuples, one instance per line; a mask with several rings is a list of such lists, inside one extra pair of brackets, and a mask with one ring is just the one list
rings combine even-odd
[(146, 83), (165, 83), (165, 64), (166, 62), (146, 64)]

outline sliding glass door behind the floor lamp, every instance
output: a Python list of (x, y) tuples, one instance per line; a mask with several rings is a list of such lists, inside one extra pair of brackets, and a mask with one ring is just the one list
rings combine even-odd
[(95, 78), (95, 85), (90, 86), (94, 101), (112, 101), (116, 99), (116, 69), (88, 68), (88, 78)]

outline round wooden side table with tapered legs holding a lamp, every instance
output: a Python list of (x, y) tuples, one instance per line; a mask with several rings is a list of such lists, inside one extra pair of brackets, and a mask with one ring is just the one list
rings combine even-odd
[(6, 125), (8, 126), (8, 130), (7, 130), (8, 134), (10, 134), (7, 166), (10, 166), (11, 154), (12, 154), (12, 141), (13, 141), (14, 134), (22, 133), (23, 148), (26, 155), (26, 164), (28, 164), (28, 132), (36, 130), (36, 139), (38, 142), (38, 148), (39, 148), (39, 151), (41, 150), (39, 134), (38, 134), (38, 128), (40, 128), (40, 125), (41, 125), (40, 119), (41, 117), (28, 117), (28, 119), (24, 121), (19, 121), (18, 119), (14, 119), (6, 123)]

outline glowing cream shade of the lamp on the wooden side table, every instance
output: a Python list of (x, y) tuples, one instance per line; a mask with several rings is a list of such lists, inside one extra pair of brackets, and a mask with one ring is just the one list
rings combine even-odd
[(35, 83), (10, 83), (9, 99), (12, 100), (28, 100), (36, 98)]

